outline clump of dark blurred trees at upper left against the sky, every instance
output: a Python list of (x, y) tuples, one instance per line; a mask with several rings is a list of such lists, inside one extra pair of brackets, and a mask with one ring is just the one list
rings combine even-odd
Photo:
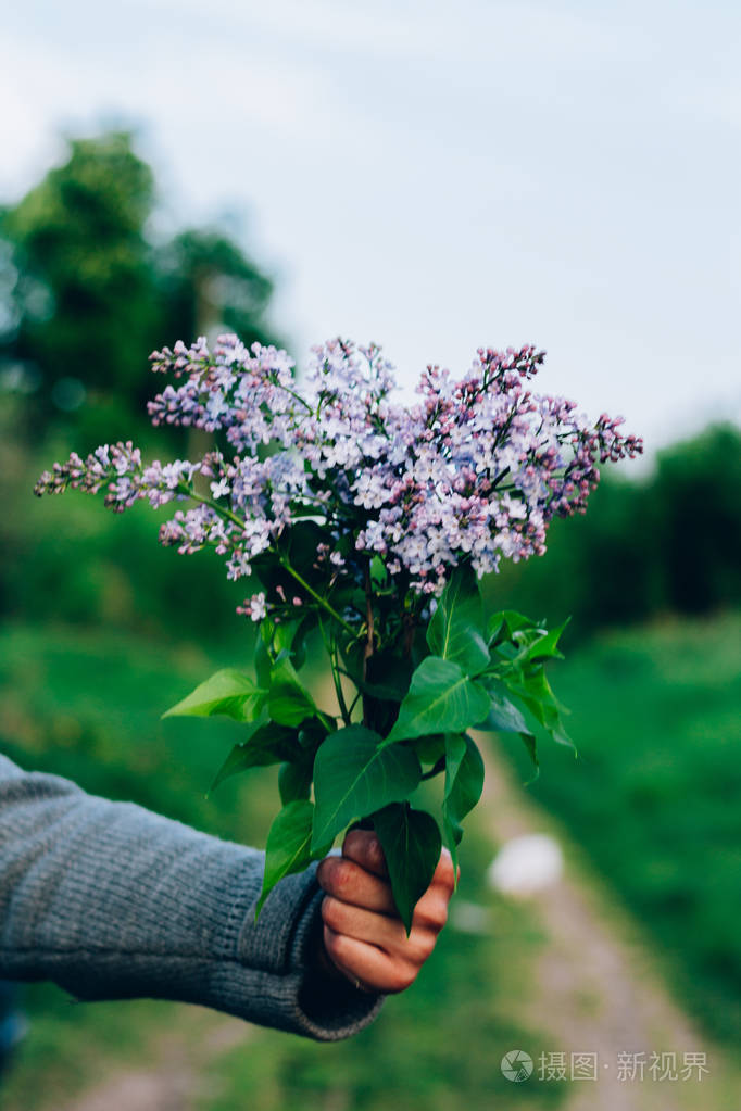
[(117, 131), (72, 139), (0, 210), (0, 381), (27, 394), (37, 436), (60, 414), (86, 441), (134, 434), (156, 347), (219, 328), (272, 341), (271, 280), (217, 228), (156, 242), (156, 202), (151, 168)]

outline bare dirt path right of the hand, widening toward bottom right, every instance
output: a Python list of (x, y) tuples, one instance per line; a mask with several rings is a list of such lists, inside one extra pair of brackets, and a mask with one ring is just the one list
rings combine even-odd
[[(600, 1079), (570, 1084), (567, 1111), (738, 1111), (741, 1072), (693, 1027), (660, 980), (635, 923), (491, 753), (484, 801), (482, 812), (498, 843), (538, 832), (554, 837), (564, 850), (563, 878), (532, 900), (548, 943), (523, 1019), (552, 1031), (569, 1067), (572, 1052), (598, 1054)], [(648, 1071), (654, 1051), (677, 1054), (680, 1079), (660, 1081)], [(625, 1079), (624, 1068), (619, 1079), (621, 1052), (645, 1054), (642, 1081), (638, 1071), (637, 1079)], [(709, 1072), (701, 1081), (681, 1079), (684, 1053), (707, 1054)]]

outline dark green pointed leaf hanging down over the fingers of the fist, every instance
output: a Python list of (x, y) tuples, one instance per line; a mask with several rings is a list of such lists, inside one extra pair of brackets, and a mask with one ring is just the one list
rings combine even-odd
[(432, 814), (394, 802), (372, 815), (385, 857), (393, 900), (407, 933), (414, 907), (430, 885), (440, 860), (440, 829)]

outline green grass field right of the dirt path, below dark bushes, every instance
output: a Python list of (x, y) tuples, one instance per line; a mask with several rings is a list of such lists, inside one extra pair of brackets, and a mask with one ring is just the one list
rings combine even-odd
[(648, 928), (708, 1029), (738, 1040), (741, 617), (603, 634), (551, 680), (579, 759), (541, 743), (529, 790)]

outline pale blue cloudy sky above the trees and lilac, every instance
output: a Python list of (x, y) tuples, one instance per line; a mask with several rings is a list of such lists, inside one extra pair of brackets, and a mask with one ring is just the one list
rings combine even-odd
[(741, 422), (740, 54), (730, 0), (28, 0), (0, 202), (133, 127), (163, 223), (228, 221), (299, 357), (373, 340), (410, 384), (532, 342), (652, 453)]

